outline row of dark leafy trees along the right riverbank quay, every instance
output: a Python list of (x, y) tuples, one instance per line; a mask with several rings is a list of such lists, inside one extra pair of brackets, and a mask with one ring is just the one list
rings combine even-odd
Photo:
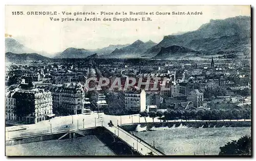
[(170, 110), (165, 111), (162, 113), (161, 111), (151, 111), (151, 112), (140, 112), (140, 117), (150, 117), (154, 119), (159, 117), (160, 120), (178, 120), (178, 119), (185, 119), (185, 120), (238, 120), (238, 119), (250, 119), (251, 118), (251, 111), (249, 109), (234, 109), (234, 110)]

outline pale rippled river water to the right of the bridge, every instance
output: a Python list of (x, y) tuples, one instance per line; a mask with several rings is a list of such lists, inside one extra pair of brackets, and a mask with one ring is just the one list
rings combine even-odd
[(251, 135), (251, 127), (187, 128), (153, 127), (143, 131), (137, 126), (135, 135), (155, 146), (166, 155), (218, 155), (220, 147), (227, 142)]

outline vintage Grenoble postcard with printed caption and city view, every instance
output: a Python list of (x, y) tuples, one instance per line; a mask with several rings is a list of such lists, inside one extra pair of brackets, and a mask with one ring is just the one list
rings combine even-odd
[(6, 156), (251, 156), (251, 6), (5, 7)]

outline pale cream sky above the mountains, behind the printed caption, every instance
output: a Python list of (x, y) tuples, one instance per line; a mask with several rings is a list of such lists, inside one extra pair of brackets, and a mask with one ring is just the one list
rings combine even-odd
[[(14, 15), (23, 11), (24, 15)], [(32, 11), (56, 11), (57, 15), (28, 15)], [(169, 12), (171, 15), (129, 15), (132, 12)], [(202, 12), (202, 15), (172, 15), (172, 12)], [(71, 12), (72, 15), (62, 15)], [(74, 12), (95, 12), (96, 15), (74, 16)], [(100, 12), (126, 12), (127, 15), (100, 15)], [(6, 6), (5, 33), (36, 51), (61, 52), (68, 47), (97, 49), (136, 40), (159, 43), (163, 36), (197, 30), (210, 19), (250, 16), (250, 6)], [(50, 17), (60, 21), (50, 20)], [(61, 18), (82, 18), (64, 21)], [(83, 21), (101, 18), (101, 21)], [(103, 18), (112, 21), (103, 21)], [(116, 18), (138, 18), (138, 21), (113, 21)], [(150, 17), (151, 21), (142, 21)]]

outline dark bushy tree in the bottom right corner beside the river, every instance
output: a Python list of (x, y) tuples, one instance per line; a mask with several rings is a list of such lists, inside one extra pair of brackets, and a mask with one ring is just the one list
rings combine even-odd
[(238, 141), (232, 140), (220, 149), (219, 155), (251, 155), (251, 137), (244, 136)]

